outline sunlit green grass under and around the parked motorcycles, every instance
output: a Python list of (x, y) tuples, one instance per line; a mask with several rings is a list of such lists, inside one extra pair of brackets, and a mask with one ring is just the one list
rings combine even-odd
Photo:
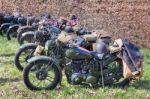
[(14, 66), (14, 54), (19, 47), (15, 39), (0, 37), (0, 99), (150, 99), (150, 49), (142, 49), (145, 56), (144, 77), (130, 86), (89, 88), (73, 86), (63, 78), (62, 86), (52, 91), (30, 91), (22, 73)]

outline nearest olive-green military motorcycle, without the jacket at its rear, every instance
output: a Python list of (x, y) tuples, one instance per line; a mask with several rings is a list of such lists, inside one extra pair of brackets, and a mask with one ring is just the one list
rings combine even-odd
[(117, 57), (119, 51), (107, 50), (103, 40), (96, 44), (104, 45), (102, 53), (99, 49), (86, 50), (72, 41), (64, 44), (59, 37), (49, 41), (46, 44), (49, 56), (28, 60), (23, 71), (26, 87), (30, 90), (52, 90), (62, 80), (62, 69), (70, 84), (104, 86), (119, 83), (123, 77), (122, 63)]

